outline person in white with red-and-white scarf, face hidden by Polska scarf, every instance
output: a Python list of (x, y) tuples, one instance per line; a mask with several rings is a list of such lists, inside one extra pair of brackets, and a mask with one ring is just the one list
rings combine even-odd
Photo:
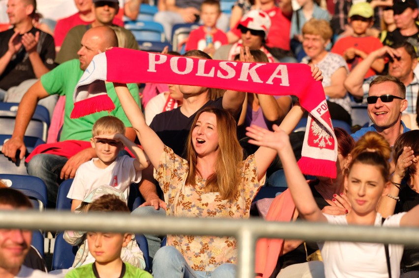
[(169, 91), (158, 94), (147, 104), (144, 111), (147, 125), (150, 126), (155, 115), (171, 111), (182, 105), (183, 94), (180, 92), (179, 85), (169, 84), (168, 87)]

